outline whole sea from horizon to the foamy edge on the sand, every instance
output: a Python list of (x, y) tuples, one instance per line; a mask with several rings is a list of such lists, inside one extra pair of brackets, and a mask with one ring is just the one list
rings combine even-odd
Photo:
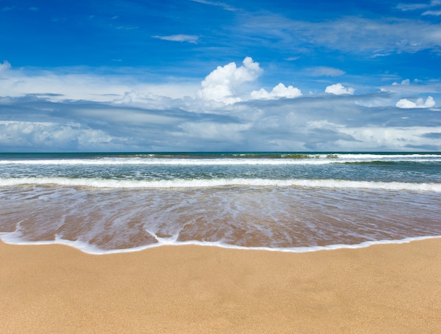
[(441, 153), (0, 153), (0, 239), (91, 254), (441, 236)]

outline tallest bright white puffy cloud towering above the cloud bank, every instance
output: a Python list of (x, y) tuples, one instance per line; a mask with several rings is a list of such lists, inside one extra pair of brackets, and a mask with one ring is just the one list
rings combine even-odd
[(242, 64), (239, 68), (234, 62), (218, 66), (201, 82), (197, 96), (207, 101), (227, 104), (242, 101), (242, 98), (236, 96), (236, 89), (244, 82), (257, 79), (262, 72), (259, 63), (254, 62), (251, 57), (244, 58)]

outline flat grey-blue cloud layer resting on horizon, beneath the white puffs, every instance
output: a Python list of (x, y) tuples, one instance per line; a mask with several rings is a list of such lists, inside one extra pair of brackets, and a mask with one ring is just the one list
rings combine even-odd
[[(198, 112), (197, 100), (134, 106), (156, 96), (130, 91), (114, 103), (0, 99), (0, 148), (18, 150), (440, 150), (439, 112), (356, 101), (392, 94), (249, 100)], [(178, 103), (178, 101), (176, 101)], [(205, 109), (204, 109), (205, 110)], [(425, 113), (425, 114), (426, 114)], [(366, 124), (369, 124), (366, 127)], [(418, 131), (416, 131), (418, 127)], [(412, 135), (411, 135), (412, 134)], [(408, 148), (409, 147), (409, 148)]]

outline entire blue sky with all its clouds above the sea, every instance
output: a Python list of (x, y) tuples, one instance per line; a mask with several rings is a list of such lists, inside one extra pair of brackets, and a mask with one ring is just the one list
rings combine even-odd
[(0, 152), (441, 151), (441, 0), (0, 0)]

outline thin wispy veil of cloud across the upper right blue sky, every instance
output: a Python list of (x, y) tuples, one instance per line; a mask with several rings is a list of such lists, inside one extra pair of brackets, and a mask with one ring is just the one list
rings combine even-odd
[(371, 56), (421, 50), (436, 52), (441, 46), (440, 25), (405, 18), (345, 16), (307, 22), (263, 14), (249, 16), (239, 28), (242, 34), (275, 39), (280, 47), (290, 52), (303, 48), (306, 40), (320, 50), (328, 48)]

